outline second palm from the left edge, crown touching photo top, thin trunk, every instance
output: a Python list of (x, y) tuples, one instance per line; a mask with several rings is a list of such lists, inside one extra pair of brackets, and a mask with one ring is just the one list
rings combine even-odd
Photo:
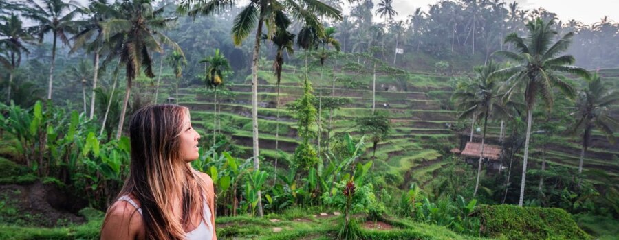
[(43, 36), (52, 32), (52, 63), (50, 64), (50, 82), (47, 84), (47, 99), (52, 99), (52, 82), (54, 81), (54, 63), (56, 62), (56, 40), (60, 38), (64, 45), (69, 45), (69, 35), (75, 34), (76, 27), (74, 19), (83, 10), (73, 2), (65, 3), (63, 0), (27, 0), (29, 8), (25, 8), (22, 13), (27, 19), (32, 19), (39, 23), (34, 28), (39, 34), (39, 40), (43, 41)]

